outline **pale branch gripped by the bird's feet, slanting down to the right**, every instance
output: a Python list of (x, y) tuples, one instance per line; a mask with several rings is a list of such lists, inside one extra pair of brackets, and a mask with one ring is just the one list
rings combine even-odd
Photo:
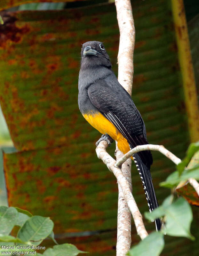
[(131, 214), (133, 216), (133, 220), (135, 222), (135, 227), (137, 230), (138, 235), (141, 239), (144, 239), (148, 234), (145, 229), (142, 215), (139, 212), (138, 206), (135, 202), (134, 197), (132, 196), (131, 190), (129, 188), (128, 181), (123, 176), (123, 173), (121, 171), (121, 168), (115, 167), (115, 159), (113, 159), (106, 151), (106, 148), (108, 146), (107, 141), (103, 140), (99, 143), (99, 145), (96, 148), (96, 153), (98, 158), (100, 158), (104, 164), (107, 165), (108, 169), (114, 173), (117, 182), (120, 184), (120, 187), (122, 188), (123, 196), (128, 204), (128, 207), (131, 211)]

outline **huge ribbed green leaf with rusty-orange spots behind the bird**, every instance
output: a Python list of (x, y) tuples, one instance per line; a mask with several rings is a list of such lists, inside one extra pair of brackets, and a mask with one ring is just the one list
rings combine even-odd
[[(100, 134), (77, 106), (81, 43), (103, 41), (117, 73), (114, 4), (6, 15), (0, 31), (0, 101), (19, 150), (4, 154), (9, 204), (51, 216), (55, 233), (115, 228), (117, 184), (95, 154)], [(189, 138), (170, 1), (133, 1), (133, 15), (132, 98), (146, 123), (149, 142), (163, 144), (182, 158)], [(114, 145), (108, 150), (113, 155)], [(151, 172), (161, 203), (169, 191), (158, 183), (174, 165), (157, 152), (153, 156)], [(147, 211), (134, 167), (132, 180), (140, 211)], [(154, 229), (154, 224), (147, 228)], [(197, 224), (193, 235), (196, 228)], [(166, 239), (169, 246), (163, 255), (189, 255), (191, 242)], [(137, 235), (133, 241), (139, 241)], [(114, 231), (71, 242), (90, 255), (115, 255)]]

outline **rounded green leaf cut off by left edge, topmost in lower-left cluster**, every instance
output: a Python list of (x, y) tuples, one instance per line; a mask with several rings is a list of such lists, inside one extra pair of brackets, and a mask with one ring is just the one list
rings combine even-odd
[(14, 207), (0, 207), (0, 233), (9, 235), (17, 221), (18, 212)]

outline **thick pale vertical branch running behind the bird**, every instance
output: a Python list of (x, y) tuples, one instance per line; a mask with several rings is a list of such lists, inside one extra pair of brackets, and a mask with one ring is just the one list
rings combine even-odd
[[(120, 44), (118, 51), (118, 81), (131, 95), (133, 82), (133, 51), (135, 45), (135, 27), (132, 15), (130, 0), (115, 0), (117, 11), (117, 21), (120, 30)], [(116, 143), (116, 159), (121, 158), (123, 154), (118, 150)], [(131, 183), (131, 160), (122, 166), (122, 173)], [(117, 214), (117, 246), (116, 255), (126, 255), (131, 246), (131, 213), (126, 207), (126, 201), (122, 189), (118, 183), (118, 214)]]

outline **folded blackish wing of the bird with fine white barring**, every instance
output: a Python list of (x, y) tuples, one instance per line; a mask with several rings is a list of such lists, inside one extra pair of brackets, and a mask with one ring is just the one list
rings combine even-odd
[[(116, 93), (105, 80), (98, 80), (88, 87), (92, 104), (122, 133), (132, 148), (148, 144), (143, 136), (143, 120), (131, 98)], [(149, 167), (153, 162), (150, 151), (139, 152), (144, 164)]]

